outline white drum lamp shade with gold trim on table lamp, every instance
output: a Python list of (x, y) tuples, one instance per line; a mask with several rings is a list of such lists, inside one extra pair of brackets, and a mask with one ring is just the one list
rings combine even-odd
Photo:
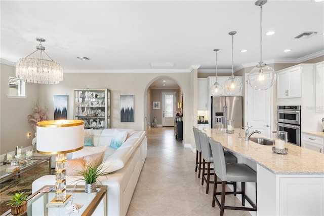
[(84, 131), (82, 120), (37, 122), (37, 152), (56, 155), (83, 149)]

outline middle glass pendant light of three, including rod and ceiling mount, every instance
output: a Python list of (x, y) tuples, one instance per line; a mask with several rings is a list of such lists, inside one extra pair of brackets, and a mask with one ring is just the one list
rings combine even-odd
[(232, 35), (232, 76), (225, 82), (225, 93), (226, 94), (240, 94), (242, 90), (242, 83), (234, 76), (234, 64), (233, 64), (233, 38), (236, 31), (230, 31), (228, 33)]

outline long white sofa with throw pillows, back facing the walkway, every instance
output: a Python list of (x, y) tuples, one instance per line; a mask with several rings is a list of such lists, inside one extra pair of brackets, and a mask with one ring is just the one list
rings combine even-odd
[[(128, 132), (128, 138), (117, 150), (109, 147), (114, 130), (126, 130)], [(92, 137), (94, 146), (108, 146), (103, 163), (106, 167), (109, 167), (109, 171), (115, 170), (107, 175), (107, 178), (106, 176), (100, 176), (101, 183), (108, 186), (108, 215), (126, 215), (147, 154), (146, 134), (144, 131), (134, 131), (132, 129), (103, 129), (93, 130)], [(93, 147), (85, 147), (79, 151), (90, 148)], [(67, 159), (71, 158), (71, 154), (73, 157), (73, 154), (77, 153), (70, 153), (67, 155)], [(70, 185), (74, 180), (75, 175), (67, 175), (67, 185)], [(32, 183), (32, 193), (45, 185), (54, 184), (55, 175), (44, 175)], [(84, 181), (78, 182), (77, 185), (84, 185)], [(32, 210), (32, 215), (37, 215), (36, 211), (39, 212), (39, 209)], [(93, 215), (104, 215), (103, 201), (101, 201)]]

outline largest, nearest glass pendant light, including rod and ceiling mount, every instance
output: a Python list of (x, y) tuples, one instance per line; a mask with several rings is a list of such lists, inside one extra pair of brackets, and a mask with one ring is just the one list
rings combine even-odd
[(267, 90), (271, 88), (276, 80), (274, 69), (262, 61), (262, 6), (267, 3), (267, 0), (260, 0), (255, 3), (261, 9), (261, 22), (260, 22), (260, 62), (255, 68), (251, 70), (248, 75), (248, 82), (251, 87), (256, 90)]

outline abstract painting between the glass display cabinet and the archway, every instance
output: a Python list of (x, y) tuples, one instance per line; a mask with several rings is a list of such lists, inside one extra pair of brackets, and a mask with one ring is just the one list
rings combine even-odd
[(134, 122), (134, 95), (120, 95), (120, 122)]

